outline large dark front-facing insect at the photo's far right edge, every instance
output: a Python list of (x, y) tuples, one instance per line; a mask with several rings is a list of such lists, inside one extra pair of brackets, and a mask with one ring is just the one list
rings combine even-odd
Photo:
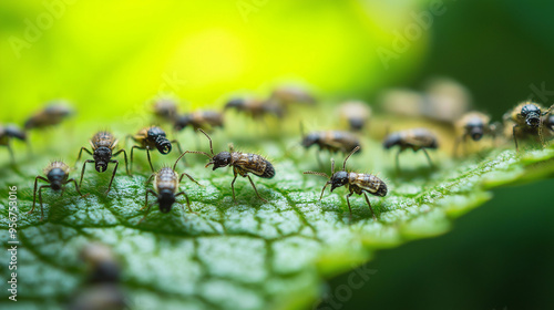
[(545, 123), (543, 122), (543, 116), (548, 115), (554, 105), (552, 105), (548, 110), (544, 111), (540, 104), (526, 101), (520, 103), (515, 106), (511, 112), (504, 114), (505, 122), (514, 123), (512, 127), (512, 135), (515, 143), (515, 151), (520, 152), (520, 147), (517, 145), (517, 134), (530, 135), (538, 133), (538, 140), (541, 144), (544, 146), (544, 137), (543, 137), (543, 127)]

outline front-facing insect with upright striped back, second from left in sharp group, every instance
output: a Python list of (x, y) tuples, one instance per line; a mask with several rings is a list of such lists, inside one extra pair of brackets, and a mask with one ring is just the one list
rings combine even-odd
[(115, 167), (113, 168), (112, 178), (110, 179), (110, 184), (107, 185), (107, 190), (105, 192), (107, 194), (112, 188), (112, 182), (113, 178), (115, 177), (115, 172), (117, 170), (117, 166), (120, 165), (120, 162), (113, 159), (113, 157), (123, 153), (123, 156), (125, 158), (125, 170), (129, 174), (127, 153), (123, 148), (115, 153), (112, 153), (115, 149), (115, 146), (117, 146), (117, 140), (110, 132), (104, 132), (104, 131), (98, 132), (89, 141), (89, 143), (91, 144), (92, 152), (84, 146), (81, 147), (76, 161), (79, 162), (79, 159), (81, 159), (83, 151), (89, 153), (89, 155), (92, 155), (94, 159), (84, 161), (83, 168), (81, 169), (81, 179), (79, 180), (79, 187), (81, 187), (81, 184), (83, 183), (84, 168), (86, 167), (86, 164), (94, 163), (94, 168), (96, 168), (96, 172), (103, 173), (107, 169), (107, 164), (113, 163), (115, 164)]

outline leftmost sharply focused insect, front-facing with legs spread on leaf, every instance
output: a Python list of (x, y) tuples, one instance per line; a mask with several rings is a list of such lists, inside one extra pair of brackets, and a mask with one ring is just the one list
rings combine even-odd
[[(69, 172), (70, 167), (68, 165), (65, 165), (63, 162), (54, 161), (44, 168), (44, 175), (47, 177), (38, 175), (34, 178), (33, 207), (28, 214), (31, 214), (34, 210), (34, 207), (37, 206), (37, 189), (39, 190), (39, 204), (41, 214), (40, 220), (44, 218), (44, 209), (42, 207), (42, 188), (52, 188), (52, 190), (54, 192), (61, 190), (61, 195), (63, 195), (63, 192), (65, 190), (65, 184), (73, 182), (73, 184), (75, 185), (76, 193), (83, 196), (81, 194), (81, 190), (79, 190), (76, 180), (74, 178), (69, 178)], [(37, 188), (39, 185), (39, 179), (47, 182), (48, 185), (41, 185), (39, 188)]]

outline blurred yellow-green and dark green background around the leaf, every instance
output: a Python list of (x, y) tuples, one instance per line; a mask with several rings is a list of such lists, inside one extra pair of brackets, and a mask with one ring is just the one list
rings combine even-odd
[[(554, 2), (44, 3), (0, 2), (2, 123), (21, 124), (58, 97), (75, 103), (79, 120), (110, 123), (142, 113), (161, 94), (174, 93), (191, 108), (220, 106), (230, 94), (264, 94), (280, 82), (375, 102), (383, 87), (421, 89), (428, 78), (450, 76), (495, 118), (519, 101), (554, 99)], [(431, 8), (441, 13), (424, 29), (418, 17)], [(406, 39), (414, 24), (420, 35), (383, 62), (383, 49), (394, 51), (398, 33)], [(379, 272), (343, 306), (551, 309), (552, 199), (542, 194), (552, 186), (497, 190), (447, 236), (379, 254), (370, 262)]]

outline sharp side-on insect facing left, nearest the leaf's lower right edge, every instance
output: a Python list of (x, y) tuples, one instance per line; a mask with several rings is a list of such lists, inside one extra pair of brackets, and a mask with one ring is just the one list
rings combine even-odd
[(368, 203), (368, 207), (371, 210), (371, 215), (373, 216), (373, 219), (377, 220), (376, 214), (373, 213), (373, 208), (371, 208), (371, 204), (369, 203), (369, 198), (366, 193), (369, 193), (373, 196), (384, 197), (387, 196), (387, 184), (372, 174), (359, 174), (346, 170), (346, 163), (348, 158), (350, 158), (350, 156), (352, 156), (352, 154), (359, 149), (360, 147), (357, 146), (350, 154), (348, 154), (348, 156), (345, 158), (345, 162), (342, 163), (342, 170), (340, 172), (335, 172), (335, 161), (331, 159), (331, 177), (329, 177), (325, 173), (318, 172), (305, 172), (304, 174), (318, 175), (327, 177), (329, 179), (325, 184), (324, 189), (321, 189), (321, 196), (319, 197), (319, 200), (321, 200), (321, 198), (324, 197), (327, 185), (331, 185), (331, 192), (337, 187), (346, 186), (350, 192), (346, 196), (348, 209), (350, 210), (350, 218), (352, 217), (350, 196), (352, 196), (355, 193), (358, 195), (363, 194), (363, 196), (366, 197), (366, 202)]

